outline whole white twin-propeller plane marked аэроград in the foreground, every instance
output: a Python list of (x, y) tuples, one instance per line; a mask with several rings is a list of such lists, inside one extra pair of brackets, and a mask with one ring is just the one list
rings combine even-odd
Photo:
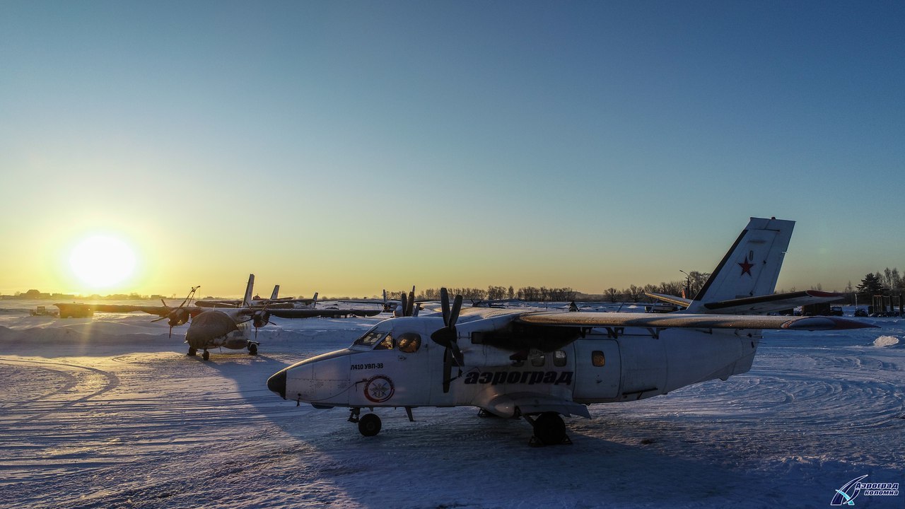
[[(688, 309), (668, 314), (452, 308), (442, 316), (378, 323), (347, 349), (302, 360), (267, 380), (283, 399), (350, 408), (365, 436), (380, 431), (361, 408), (473, 406), (525, 418), (532, 443), (568, 443), (560, 416), (587, 406), (651, 398), (751, 369), (761, 331), (870, 327), (835, 317), (718, 314), (710, 303), (769, 300), (793, 221), (751, 218)], [(709, 312), (700, 312), (708, 309)], [(460, 316), (460, 313), (462, 316)]]

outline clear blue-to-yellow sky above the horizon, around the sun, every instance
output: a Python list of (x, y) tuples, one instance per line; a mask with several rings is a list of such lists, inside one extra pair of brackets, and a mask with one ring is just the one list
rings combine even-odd
[[(0, 3), (0, 293), (905, 269), (905, 3)], [(70, 254), (119, 238), (90, 288)]]

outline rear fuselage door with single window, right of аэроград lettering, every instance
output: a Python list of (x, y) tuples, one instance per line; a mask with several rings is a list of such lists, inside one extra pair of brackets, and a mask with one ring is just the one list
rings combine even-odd
[(622, 378), (619, 343), (613, 340), (575, 341), (575, 393), (573, 398), (615, 399)]

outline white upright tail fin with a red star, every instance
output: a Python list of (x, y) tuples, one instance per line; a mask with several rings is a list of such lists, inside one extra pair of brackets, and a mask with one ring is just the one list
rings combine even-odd
[(707, 303), (774, 293), (793, 227), (795, 221), (751, 217), (686, 312), (706, 312)]

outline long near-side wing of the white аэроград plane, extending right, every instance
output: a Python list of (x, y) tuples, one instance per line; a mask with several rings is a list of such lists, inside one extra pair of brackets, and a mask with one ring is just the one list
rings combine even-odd
[(639, 312), (526, 312), (516, 319), (529, 325), (561, 327), (643, 327), (668, 329), (787, 329), (832, 331), (875, 327), (834, 316), (763, 316), (731, 314), (648, 314)]

